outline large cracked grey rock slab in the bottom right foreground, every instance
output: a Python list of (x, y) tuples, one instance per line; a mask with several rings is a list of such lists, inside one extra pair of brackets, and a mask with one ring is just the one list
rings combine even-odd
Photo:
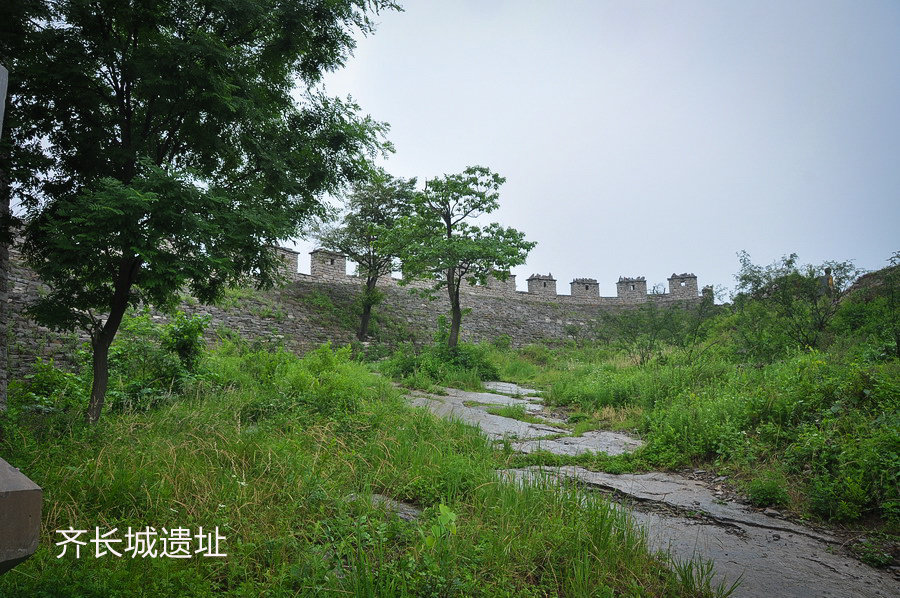
[[(580, 467), (531, 467), (501, 474), (516, 480), (548, 475), (573, 479), (630, 498), (631, 515), (646, 530), (653, 549), (671, 552), (679, 560), (713, 561), (717, 581), (730, 585), (741, 579), (734, 596), (900, 596), (892, 575), (843, 554), (828, 534), (737, 503), (719, 504), (695, 480), (664, 473), (605, 474)], [(656, 506), (663, 507), (662, 512), (652, 508)], [(665, 512), (670, 507), (675, 512)], [(691, 512), (697, 516), (689, 516)]]

